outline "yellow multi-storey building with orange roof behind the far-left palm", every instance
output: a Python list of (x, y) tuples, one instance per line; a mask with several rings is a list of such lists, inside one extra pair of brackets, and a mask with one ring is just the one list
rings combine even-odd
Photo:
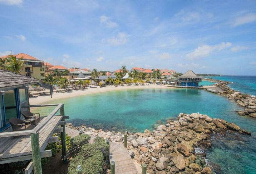
[[(3, 56), (1, 58), (7, 58), (9, 55), (7, 56)], [(19, 53), (19, 54), (14, 54), (14, 56), (16, 56), (17, 59), (22, 58), (22, 60), (25, 62), (25, 68), (20, 72), (20, 74), (24, 75), (24, 76), (28, 76), (28, 77), (33, 77), (33, 78), (37, 78), (40, 80), (44, 80), (45, 79), (45, 62), (43, 60), (39, 60), (35, 57), (32, 57), (28, 54), (25, 53)]]

